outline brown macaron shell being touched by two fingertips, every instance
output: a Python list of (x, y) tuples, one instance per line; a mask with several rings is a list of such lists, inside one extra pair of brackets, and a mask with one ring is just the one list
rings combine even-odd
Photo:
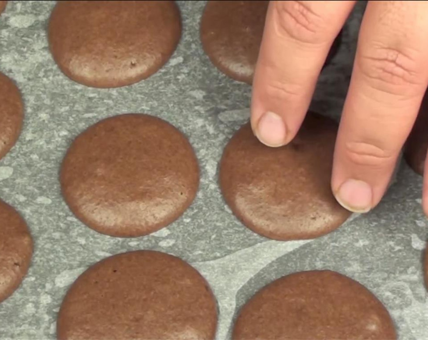
[(294, 140), (263, 145), (250, 123), (230, 139), (220, 162), (220, 187), (251, 230), (278, 240), (309, 239), (339, 228), (351, 215), (330, 188), (337, 123), (308, 112)]

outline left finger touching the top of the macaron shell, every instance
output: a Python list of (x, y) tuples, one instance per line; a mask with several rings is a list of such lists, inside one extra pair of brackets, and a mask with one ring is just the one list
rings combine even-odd
[(251, 125), (268, 146), (290, 142), (327, 53), (355, 1), (270, 1), (253, 80)]

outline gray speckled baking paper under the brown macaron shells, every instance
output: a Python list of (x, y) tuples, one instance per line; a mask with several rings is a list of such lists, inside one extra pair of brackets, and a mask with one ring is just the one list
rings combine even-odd
[[(112, 254), (153, 249), (189, 261), (218, 300), (218, 339), (229, 337), (241, 305), (265, 284), (291, 272), (332, 269), (360, 281), (386, 305), (400, 339), (428, 339), (428, 294), (422, 279), (427, 219), (422, 178), (401, 164), (379, 206), (327, 236), (277, 242), (259, 237), (232, 215), (217, 184), (223, 148), (248, 117), (250, 87), (219, 71), (199, 42), (205, 2), (180, 2), (183, 35), (169, 62), (147, 80), (92, 89), (66, 78), (48, 50), (48, 1), (9, 1), (0, 15), (0, 71), (16, 81), (25, 103), (21, 137), (0, 161), (0, 198), (18, 209), (35, 241), (21, 287), (0, 304), (2, 339), (54, 339), (56, 313), (69, 285)], [(339, 54), (320, 77), (312, 108), (338, 117), (351, 74), (364, 3), (346, 24)], [(196, 200), (168, 228), (120, 239), (80, 223), (60, 195), (58, 171), (77, 134), (102, 118), (145, 112), (189, 136), (201, 168)]]

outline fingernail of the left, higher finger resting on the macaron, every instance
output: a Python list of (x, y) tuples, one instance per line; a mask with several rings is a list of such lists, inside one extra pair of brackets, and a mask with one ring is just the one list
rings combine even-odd
[(259, 141), (273, 148), (285, 144), (286, 133), (282, 118), (270, 111), (262, 115), (256, 129), (256, 137)]

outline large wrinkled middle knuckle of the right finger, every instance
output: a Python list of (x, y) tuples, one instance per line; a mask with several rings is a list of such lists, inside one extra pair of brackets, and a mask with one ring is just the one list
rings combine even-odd
[(372, 88), (388, 94), (403, 95), (419, 84), (416, 62), (397, 49), (373, 49), (360, 57), (360, 69)]

